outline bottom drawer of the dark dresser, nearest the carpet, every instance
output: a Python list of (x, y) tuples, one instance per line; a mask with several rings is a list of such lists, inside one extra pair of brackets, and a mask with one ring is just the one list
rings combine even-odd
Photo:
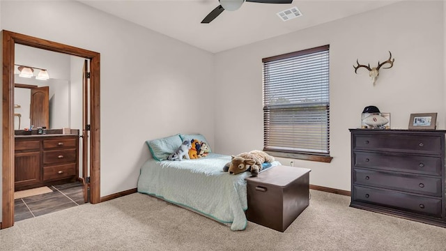
[(407, 195), (402, 192), (379, 190), (372, 188), (353, 187), (354, 201), (362, 201), (379, 206), (396, 208), (401, 211), (409, 211), (422, 215), (430, 215), (441, 218), (441, 199)]

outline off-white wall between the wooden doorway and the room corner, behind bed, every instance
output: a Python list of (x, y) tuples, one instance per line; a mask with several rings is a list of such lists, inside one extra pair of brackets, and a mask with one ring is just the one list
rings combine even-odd
[(201, 132), (214, 144), (213, 54), (76, 1), (0, 4), (1, 29), (100, 52), (102, 197), (136, 188), (146, 139)]

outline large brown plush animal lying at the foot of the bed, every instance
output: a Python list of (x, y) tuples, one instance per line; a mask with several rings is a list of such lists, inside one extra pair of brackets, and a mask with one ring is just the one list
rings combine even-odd
[(254, 150), (249, 153), (240, 153), (237, 156), (232, 155), (231, 162), (223, 167), (224, 172), (229, 174), (240, 174), (250, 169), (252, 176), (257, 176), (262, 169), (264, 162), (273, 162), (274, 157), (264, 151)]

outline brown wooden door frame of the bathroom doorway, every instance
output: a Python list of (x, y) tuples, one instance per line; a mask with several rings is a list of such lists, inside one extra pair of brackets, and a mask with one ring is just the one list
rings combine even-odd
[(61, 52), (90, 59), (90, 183), (91, 203), (100, 202), (100, 54), (70, 45), (1, 31), (2, 61), (2, 201), (0, 229), (14, 225), (14, 56), (15, 44), (27, 45), (52, 52)]

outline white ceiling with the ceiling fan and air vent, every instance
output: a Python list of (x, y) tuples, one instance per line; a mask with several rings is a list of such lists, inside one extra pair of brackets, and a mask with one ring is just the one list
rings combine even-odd
[[(208, 52), (291, 33), (342, 17), (356, 15), (401, 0), (294, 0), (291, 4), (245, 2), (236, 11), (225, 10), (210, 24), (201, 24), (218, 0), (79, 0), (86, 5), (134, 22)], [(298, 7), (301, 17), (283, 22), (276, 13)], [(373, 25), (373, 22), (364, 25)]]

